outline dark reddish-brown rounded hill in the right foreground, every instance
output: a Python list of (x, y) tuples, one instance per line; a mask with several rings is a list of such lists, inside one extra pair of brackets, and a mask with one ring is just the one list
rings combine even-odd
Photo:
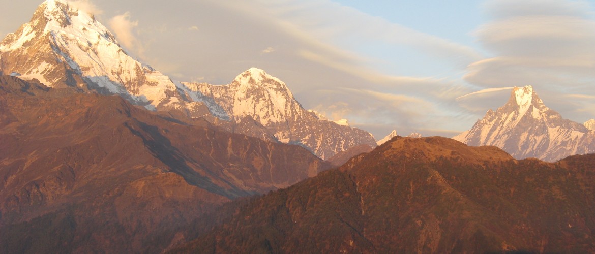
[(218, 212), (231, 217), (177, 252), (593, 252), (594, 166), (594, 155), (550, 164), (442, 137), (393, 139)]

